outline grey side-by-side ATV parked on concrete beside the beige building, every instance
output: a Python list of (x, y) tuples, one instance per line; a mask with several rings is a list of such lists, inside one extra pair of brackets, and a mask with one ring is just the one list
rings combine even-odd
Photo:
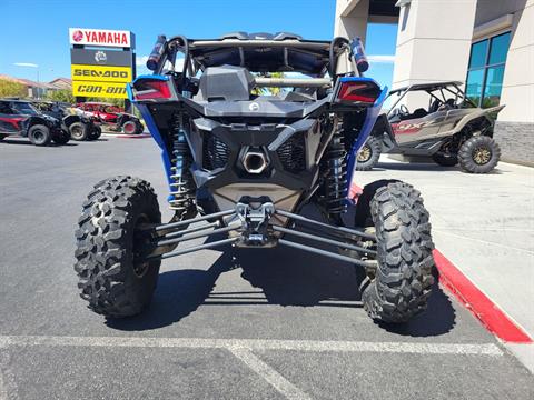
[[(492, 171), (501, 157), (493, 128), (504, 106), (481, 109), (459, 89), (461, 84), (419, 83), (390, 91), (389, 97), (398, 98), (389, 112), (377, 119), (358, 153), (356, 169), (372, 169), (386, 152), (432, 157), (443, 167), (459, 163), (471, 173)], [(411, 112), (402, 103), (407, 93), (417, 93), (417, 102), (427, 102), (427, 107)]]

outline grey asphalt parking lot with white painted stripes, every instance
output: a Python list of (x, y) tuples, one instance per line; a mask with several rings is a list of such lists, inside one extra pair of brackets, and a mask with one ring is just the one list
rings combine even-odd
[(297, 250), (169, 259), (146, 313), (90, 312), (75, 226), (92, 184), (119, 173), (149, 180), (170, 218), (150, 139), (0, 143), (0, 399), (534, 398), (528, 370), (438, 286), (425, 314), (382, 327), (350, 266)]

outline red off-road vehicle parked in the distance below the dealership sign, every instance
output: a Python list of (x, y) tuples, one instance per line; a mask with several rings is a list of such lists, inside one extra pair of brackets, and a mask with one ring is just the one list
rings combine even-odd
[(126, 134), (142, 133), (144, 127), (139, 118), (123, 112), (117, 106), (103, 102), (79, 103), (78, 109), (85, 116), (93, 117), (105, 129)]

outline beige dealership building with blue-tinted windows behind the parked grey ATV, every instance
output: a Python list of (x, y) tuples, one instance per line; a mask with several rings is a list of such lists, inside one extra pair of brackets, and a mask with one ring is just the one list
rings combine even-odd
[(503, 159), (534, 163), (534, 0), (336, 0), (335, 36), (365, 40), (368, 23), (398, 24), (394, 89), (464, 82), (481, 107), (506, 106)]

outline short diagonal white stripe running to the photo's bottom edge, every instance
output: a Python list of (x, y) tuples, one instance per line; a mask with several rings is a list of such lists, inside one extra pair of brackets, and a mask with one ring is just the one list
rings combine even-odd
[(230, 352), (241, 360), (248, 368), (270, 383), (280, 394), (290, 400), (308, 400), (306, 393), (279, 374), (275, 369), (266, 364), (253, 352), (245, 348), (231, 348)]

